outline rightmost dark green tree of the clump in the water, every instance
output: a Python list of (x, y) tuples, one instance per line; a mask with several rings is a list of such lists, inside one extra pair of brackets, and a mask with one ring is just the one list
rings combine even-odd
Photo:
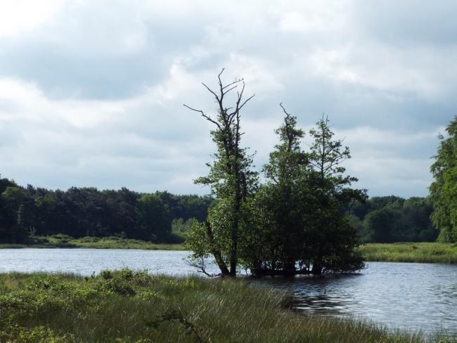
[(349, 148), (333, 139), (328, 119), (319, 120), (309, 134), (313, 143), (308, 155), (311, 169), (307, 174), (309, 216), (304, 264), (311, 264), (313, 274), (360, 269), (361, 255), (355, 250), (359, 236), (349, 224), (345, 208), (352, 201), (364, 202), (366, 190), (350, 187), (357, 179), (345, 175), (341, 165), (351, 157)]

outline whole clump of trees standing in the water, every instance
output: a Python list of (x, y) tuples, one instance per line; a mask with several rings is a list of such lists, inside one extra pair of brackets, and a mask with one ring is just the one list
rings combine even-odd
[(220, 74), (218, 79), (218, 92), (204, 84), (219, 104), (214, 119), (186, 106), (215, 125), (211, 135), (217, 146), (210, 174), (196, 181), (210, 185), (218, 202), (207, 220), (195, 224), (188, 235), (193, 263), (205, 272), (205, 257), (212, 256), (221, 274), (231, 276), (237, 265), (256, 275), (361, 268), (361, 256), (354, 250), (359, 238), (345, 207), (365, 200), (366, 195), (364, 190), (350, 188), (356, 179), (345, 176), (341, 165), (350, 157), (349, 148), (333, 139), (328, 120), (321, 119), (309, 131), (313, 144), (305, 152), (301, 147), (304, 131), (283, 108), (284, 123), (276, 130), (280, 142), (264, 166), (266, 183), (257, 190), (252, 160), (239, 148), (244, 84), (231, 112), (223, 99), (240, 80), (224, 85)]

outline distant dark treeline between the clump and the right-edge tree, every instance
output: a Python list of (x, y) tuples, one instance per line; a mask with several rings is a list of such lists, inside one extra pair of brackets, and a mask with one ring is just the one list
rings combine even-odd
[(430, 220), (430, 198), (373, 197), (351, 203), (347, 211), (362, 242), (433, 242), (439, 234)]

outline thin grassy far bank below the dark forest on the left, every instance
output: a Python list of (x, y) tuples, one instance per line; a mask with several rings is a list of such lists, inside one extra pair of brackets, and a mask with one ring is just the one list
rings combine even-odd
[(142, 250), (183, 250), (180, 244), (155, 244), (145, 240), (132, 240), (119, 237), (84, 237), (71, 238), (67, 235), (52, 235), (48, 237), (34, 236), (25, 244), (0, 244), (1, 248), (53, 248), (53, 247), (74, 247), (94, 249), (142, 249)]

